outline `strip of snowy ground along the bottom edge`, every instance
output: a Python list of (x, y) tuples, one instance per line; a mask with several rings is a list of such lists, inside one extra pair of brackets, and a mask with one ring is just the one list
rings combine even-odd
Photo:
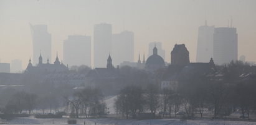
[[(147, 120), (136, 120), (136, 119), (77, 119), (77, 124), (186, 124), (186, 125), (252, 125), (256, 122), (247, 121), (223, 121), (223, 120), (187, 120), (180, 121), (179, 119), (147, 119)], [(1, 121), (2, 124), (67, 124), (67, 119), (37, 119), (37, 118), (15, 118), (11, 121)]]

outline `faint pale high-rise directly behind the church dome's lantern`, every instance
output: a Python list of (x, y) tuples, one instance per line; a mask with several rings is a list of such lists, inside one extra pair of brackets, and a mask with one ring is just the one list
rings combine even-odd
[(158, 48), (158, 55), (161, 56), (165, 60), (165, 50), (162, 49), (162, 43), (161, 42), (151, 42), (148, 44), (148, 57), (153, 54), (152, 48)]

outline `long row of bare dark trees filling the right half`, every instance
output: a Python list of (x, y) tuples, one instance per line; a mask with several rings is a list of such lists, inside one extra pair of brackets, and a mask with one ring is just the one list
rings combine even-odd
[(213, 118), (229, 116), (240, 111), (242, 118), (256, 110), (256, 77), (251, 80), (225, 83), (207, 77), (193, 77), (189, 82), (179, 82), (176, 90), (160, 90), (158, 85), (150, 84), (145, 89), (130, 85), (120, 91), (115, 101), (116, 113), (128, 118), (138, 113), (163, 113), (163, 116), (176, 114), (182, 108), (187, 118), (195, 114), (212, 113)]

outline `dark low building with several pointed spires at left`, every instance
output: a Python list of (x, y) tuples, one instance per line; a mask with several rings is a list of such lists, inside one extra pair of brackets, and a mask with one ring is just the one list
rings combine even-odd
[(54, 64), (50, 64), (49, 59), (47, 59), (47, 63), (42, 63), (43, 58), (40, 54), (39, 63), (37, 66), (32, 66), (31, 59), (29, 59), (29, 64), (27, 64), (27, 69), (25, 71), (26, 74), (48, 74), (51, 72), (65, 72), (69, 71), (69, 68), (66, 67), (62, 61), (60, 63), (58, 54), (56, 55), (56, 59)]

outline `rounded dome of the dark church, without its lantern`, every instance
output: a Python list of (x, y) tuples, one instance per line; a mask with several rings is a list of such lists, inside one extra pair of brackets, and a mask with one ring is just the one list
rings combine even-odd
[(159, 65), (164, 66), (164, 59), (158, 54), (153, 54), (146, 59), (146, 65)]

